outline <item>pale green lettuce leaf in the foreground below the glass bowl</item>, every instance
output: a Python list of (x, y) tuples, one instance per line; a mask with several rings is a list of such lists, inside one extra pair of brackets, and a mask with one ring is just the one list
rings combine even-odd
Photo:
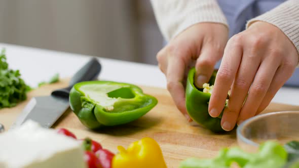
[(260, 145), (257, 153), (246, 153), (239, 147), (223, 148), (213, 159), (188, 158), (180, 163), (180, 168), (230, 168), (233, 163), (244, 168), (280, 168), (287, 162), (287, 152), (276, 142)]

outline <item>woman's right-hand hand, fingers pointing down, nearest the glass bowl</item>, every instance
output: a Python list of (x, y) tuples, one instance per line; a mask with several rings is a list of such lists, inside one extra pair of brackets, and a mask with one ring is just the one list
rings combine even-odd
[(236, 122), (240, 124), (269, 105), (297, 63), (296, 48), (279, 28), (253, 23), (228, 41), (209, 102), (210, 115), (220, 114), (231, 89), (221, 125), (232, 130)]

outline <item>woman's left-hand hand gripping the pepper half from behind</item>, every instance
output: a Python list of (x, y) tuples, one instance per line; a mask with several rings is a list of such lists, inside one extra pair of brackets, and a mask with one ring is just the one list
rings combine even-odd
[(159, 68), (166, 75), (167, 89), (189, 121), (185, 107), (186, 74), (195, 65), (196, 85), (202, 88), (222, 57), (227, 40), (228, 28), (225, 25), (198, 23), (178, 34), (157, 54)]

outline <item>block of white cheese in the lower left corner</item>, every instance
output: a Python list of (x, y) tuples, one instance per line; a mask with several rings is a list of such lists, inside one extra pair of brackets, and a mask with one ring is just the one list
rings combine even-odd
[(80, 142), (34, 121), (0, 134), (1, 168), (85, 168)]

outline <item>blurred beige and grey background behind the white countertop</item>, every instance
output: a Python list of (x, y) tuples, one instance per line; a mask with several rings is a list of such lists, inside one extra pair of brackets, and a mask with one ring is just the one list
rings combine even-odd
[(0, 43), (157, 64), (149, 0), (1, 0)]

